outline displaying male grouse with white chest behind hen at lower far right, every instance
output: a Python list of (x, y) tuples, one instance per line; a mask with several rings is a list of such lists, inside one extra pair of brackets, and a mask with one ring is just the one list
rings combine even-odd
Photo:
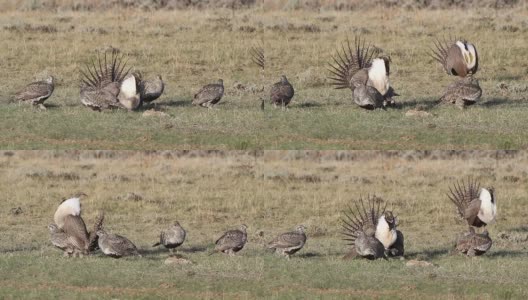
[(493, 188), (480, 188), (473, 178), (456, 182), (449, 188), (449, 200), (457, 208), (461, 218), (471, 227), (484, 227), (497, 218), (497, 203)]

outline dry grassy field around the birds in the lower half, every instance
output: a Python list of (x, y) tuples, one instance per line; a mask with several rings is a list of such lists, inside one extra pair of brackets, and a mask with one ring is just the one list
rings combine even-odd
[[(0, 298), (448, 298), (528, 296), (528, 153), (451, 156), (374, 152), (168, 154), (8, 152), (0, 157)], [(494, 245), (478, 258), (450, 255), (465, 230), (445, 196), (467, 175), (497, 191)], [(97, 253), (63, 258), (46, 225), (62, 197), (84, 191), (83, 216), (106, 212), (106, 228), (134, 241), (143, 258)], [(132, 195), (133, 193), (134, 195)], [(391, 201), (406, 238), (406, 261), (343, 261), (342, 209), (359, 195)], [(18, 214), (11, 208), (20, 207)], [(164, 264), (152, 249), (161, 228), (188, 230), (181, 254), (193, 264)], [(208, 256), (214, 239), (245, 223), (237, 257)], [(306, 247), (290, 261), (263, 249), (297, 224)]]

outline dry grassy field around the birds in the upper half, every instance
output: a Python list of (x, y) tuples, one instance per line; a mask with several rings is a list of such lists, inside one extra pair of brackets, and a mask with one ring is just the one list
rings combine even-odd
[[(528, 146), (528, 10), (107, 11), (0, 13), (1, 149), (520, 149)], [(455, 21), (454, 21), (455, 20)], [(481, 102), (465, 111), (434, 102), (453, 80), (428, 57), (434, 37), (462, 35), (481, 56)], [(347, 37), (362, 35), (391, 55), (399, 108), (363, 111), (350, 91), (329, 86), (327, 63)], [(264, 45), (261, 74), (248, 50)], [(167, 83), (157, 109), (96, 113), (79, 101), (79, 69), (109, 46)], [(58, 78), (47, 111), (10, 103), (27, 82)], [(287, 111), (259, 109), (258, 92), (288, 76)], [(225, 99), (190, 105), (223, 78)], [(262, 79), (264, 78), (264, 79)], [(264, 93), (267, 93), (265, 91)], [(428, 117), (408, 117), (419, 107)]]

